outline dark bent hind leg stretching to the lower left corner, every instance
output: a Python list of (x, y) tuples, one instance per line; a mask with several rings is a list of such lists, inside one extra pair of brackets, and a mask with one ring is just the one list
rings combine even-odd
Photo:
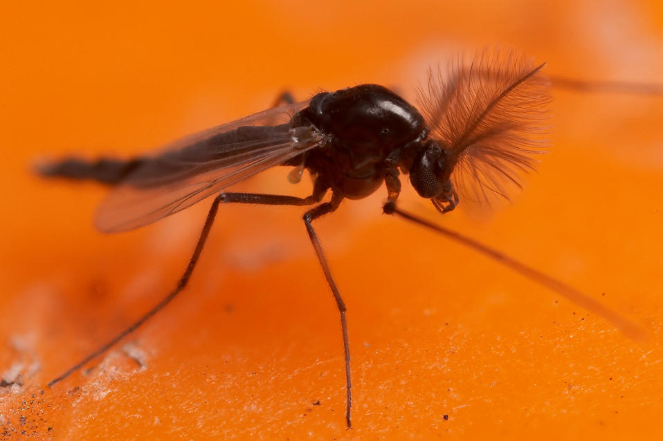
[(143, 315), (143, 317), (140, 317), (140, 319), (136, 320), (133, 324), (131, 324), (131, 326), (120, 332), (118, 335), (116, 335), (116, 337), (113, 337), (113, 339), (111, 339), (107, 344), (101, 346), (93, 353), (82, 359), (78, 364), (75, 364), (74, 366), (69, 368), (69, 370), (67, 370), (65, 373), (60, 375), (60, 377), (51, 380), (51, 382), (48, 383), (48, 387), (52, 387), (57, 382), (62, 381), (66, 377), (69, 377), (69, 375), (71, 375), (76, 370), (85, 366), (92, 359), (98, 357), (98, 355), (101, 355), (102, 353), (105, 353), (112, 346), (118, 343), (118, 341), (127, 337), (127, 335), (131, 334), (131, 332), (134, 332), (136, 329), (138, 329), (138, 327), (140, 327), (143, 323), (145, 323), (145, 321), (149, 320), (153, 315), (155, 315), (157, 312), (162, 310), (168, 303), (172, 301), (172, 299), (174, 299), (177, 296), (177, 294), (181, 292), (181, 290), (185, 288), (191, 277), (191, 273), (196, 267), (196, 263), (198, 263), (200, 254), (203, 251), (203, 246), (205, 245), (207, 237), (210, 234), (210, 229), (212, 228), (214, 219), (217, 216), (217, 211), (219, 209), (220, 203), (243, 203), (243, 204), (262, 204), (262, 205), (311, 205), (313, 203), (319, 202), (323, 196), (324, 193), (322, 193), (322, 191), (318, 191), (316, 194), (309, 196), (307, 198), (297, 198), (295, 196), (280, 196), (275, 194), (252, 194), (252, 193), (219, 194), (219, 196), (215, 198), (214, 202), (212, 202), (212, 207), (210, 207), (210, 212), (208, 213), (207, 219), (205, 220), (205, 225), (203, 225), (203, 231), (201, 232), (200, 238), (198, 239), (196, 249), (194, 250), (193, 255), (191, 256), (191, 259), (186, 267), (186, 270), (184, 271), (184, 274), (182, 274), (181, 278), (179, 279), (179, 282), (177, 282), (175, 289), (172, 290), (172, 292), (170, 292), (170, 294), (164, 297), (159, 303), (157, 303), (156, 306), (154, 306), (154, 308), (146, 312)]

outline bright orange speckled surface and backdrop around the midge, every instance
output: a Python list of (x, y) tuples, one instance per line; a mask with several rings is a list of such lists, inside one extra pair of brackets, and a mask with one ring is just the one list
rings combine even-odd
[[(520, 48), (548, 73), (663, 78), (657, 2), (401, 3), (0, 6), (0, 373), (23, 384), (0, 389), (0, 436), (662, 437), (660, 97), (555, 91), (554, 147), (489, 216), (401, 201), (623, 312), (647, 341), (382, 216), (381, 191), (317, 224), (349, 308), (351, 431), (338, 314), (297, 208), (221, 207), (190, 289), (46, 388), (172, 288), (208, 203), (103, 236), (91, 218), (105, 190), (39, 180), (35, 158), (138, 153), (283, 88), (377, 82), (411, 97), (428, 64), (484, 46)], [(286, 174), (239, 187), (307, 192)]]

